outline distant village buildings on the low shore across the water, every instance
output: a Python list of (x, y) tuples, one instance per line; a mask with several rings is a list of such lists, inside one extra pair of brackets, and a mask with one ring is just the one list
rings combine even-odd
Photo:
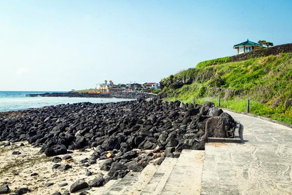
[(143, 83), (119, 83), (114, 84), (112, 80), (105, 80), (104, 83), (96, 84), (95, 89), (90, 90), (90, 94), (110, 94), (118, 92), (150, 92), (158, 93), (160, 91), (159, 83), (143, 82)]

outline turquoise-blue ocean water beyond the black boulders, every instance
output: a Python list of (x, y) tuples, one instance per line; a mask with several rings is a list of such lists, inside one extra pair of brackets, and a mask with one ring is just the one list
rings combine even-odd
[[(67, 98), (67, 97), (27, 97), (27, 94), (53, 93), (48, 91), (0, 91), (0, 112), (40, 108), (57, 104), (91, 102), (107, 103), (127, 101), (122, 98)], [(64, 92), (65, 93), (65, 92)]]

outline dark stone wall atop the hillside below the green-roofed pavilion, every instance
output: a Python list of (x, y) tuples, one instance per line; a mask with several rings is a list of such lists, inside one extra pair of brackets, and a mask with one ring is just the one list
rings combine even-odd
[(230, 62), (242, 61), (242, 60), (252, 59), (255, 57), (277, 55), (277, 54), (280, 54), (282, 52), (283, 53), (292, 52), (292, 43), (287, 43), (287, 44), (283, 44), (283, 45), (276, 45), (274, 47), (258, 49), (258, 50), (254, 50), (254, 51), (251, 51), (248, 53), (238, 54), (238, 55), (230, 57)]

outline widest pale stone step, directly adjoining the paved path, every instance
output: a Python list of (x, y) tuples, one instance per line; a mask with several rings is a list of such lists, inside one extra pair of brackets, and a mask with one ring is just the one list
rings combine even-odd
[(200, 195), (204, 151), (183, 150), (161, 195)]

